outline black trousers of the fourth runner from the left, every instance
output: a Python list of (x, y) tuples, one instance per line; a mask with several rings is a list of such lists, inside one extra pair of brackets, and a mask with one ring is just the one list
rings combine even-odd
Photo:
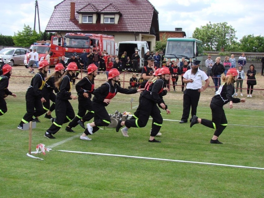
[(68, 100), (56, 98), (55, 113), (56, 118), (50, 128), (47, 130), (47, 132), (51, 134), (57, 133), (62, 127), (62, 124), (71, 121), (75, 117), (73, 107)]

